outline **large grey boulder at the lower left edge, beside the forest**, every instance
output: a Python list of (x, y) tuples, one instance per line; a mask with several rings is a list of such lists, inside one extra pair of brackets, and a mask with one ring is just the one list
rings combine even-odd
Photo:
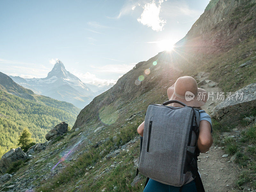
[(18, 160), (25, 160), (28, 156), (20, 147), (6, 152), (0, 160), (0, 173), (5, 173), (9, 166)]

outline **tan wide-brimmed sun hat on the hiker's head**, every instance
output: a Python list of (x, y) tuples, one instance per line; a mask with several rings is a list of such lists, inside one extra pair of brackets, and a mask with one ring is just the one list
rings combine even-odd
[[(169, 100), (179, 100), (191, 107), (203, 106), (208, 94), (204, 89), (198, 88), (196, 80), (191, 76), (179, 77), (176, 82), (167, 89)], [(173, 107), (183, 107), (180, 104), (172, 103)]]

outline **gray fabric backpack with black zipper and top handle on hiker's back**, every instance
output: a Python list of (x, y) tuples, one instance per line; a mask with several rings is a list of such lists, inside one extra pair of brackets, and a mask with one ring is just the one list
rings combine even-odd
[[(184, 107), (166, 106), (170, 103)], [(148, 178), (173, 186), (182, 186), (199, 177), (196, 146), (199, 123), (198, 109), (180, 101), (149, 105), (136, 175), (140, 171)]]

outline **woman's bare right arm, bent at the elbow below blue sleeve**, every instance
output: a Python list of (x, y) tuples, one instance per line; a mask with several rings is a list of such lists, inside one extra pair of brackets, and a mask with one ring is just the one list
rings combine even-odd
[(199, 124), (199, 136), (197, 140), (197, 147), (200, 153), (205, 153), (209, 151), (212, 146), (212, 134), (211, 134), (211, 124), (209, 121), (201, 120)]

